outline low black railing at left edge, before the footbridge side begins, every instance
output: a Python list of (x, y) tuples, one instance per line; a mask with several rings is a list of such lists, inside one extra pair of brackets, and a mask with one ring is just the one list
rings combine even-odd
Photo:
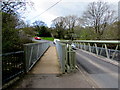
[(24, 72), (24, 51), (2, 54), (2, 84)]

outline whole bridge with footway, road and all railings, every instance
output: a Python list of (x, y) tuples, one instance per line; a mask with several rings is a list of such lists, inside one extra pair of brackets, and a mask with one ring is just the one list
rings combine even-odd
[(41, 41), (1, 57), (2, 88), (119, 88), (119, 41)]

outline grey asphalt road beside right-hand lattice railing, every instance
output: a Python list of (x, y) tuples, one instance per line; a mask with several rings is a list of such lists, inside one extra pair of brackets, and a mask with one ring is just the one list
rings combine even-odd
[(118, 66), (82, 50), (76, 50), (77, 64), (100, 88), (118, 88)]

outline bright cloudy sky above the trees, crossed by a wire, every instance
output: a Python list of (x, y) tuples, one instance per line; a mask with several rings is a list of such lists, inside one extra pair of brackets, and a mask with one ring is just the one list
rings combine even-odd
[[(27, 11), (23, 15), (23, 20), (29, 24), (34, 21), (44, 21), (48, 27), (51, 26), (52, 20), (59, 16), (77, 15), (82, 16), (83, 12), (87, 9), (90, 2), (98, 0), (29, 0), (34, 3), (34, 7), (27, 7)], [(56, 4), (51, 9), (49, 7)], [(100, 0), (104, 1), (104, 0)], [(118, 10), (119, 0), (105, 0), (110, 4), (112, 9)], [(47, 11), (46, 11), (47, 10)], [(45, 12), (46, 11), (46, 12)]]

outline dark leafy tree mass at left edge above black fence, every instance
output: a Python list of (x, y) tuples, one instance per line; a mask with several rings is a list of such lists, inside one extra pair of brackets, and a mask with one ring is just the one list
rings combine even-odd
[[(18, 27), (23, 25), (19, 18), (18, 11), (25, 8), (26, 2), (3, 1), (1, 6), (2, 14), (2, 52), (14, 52), (21, 50), (24, 43), (31, 42), (29, 39), (20, 39)], [(24, 41), (24, 42), (23, 42)]]

